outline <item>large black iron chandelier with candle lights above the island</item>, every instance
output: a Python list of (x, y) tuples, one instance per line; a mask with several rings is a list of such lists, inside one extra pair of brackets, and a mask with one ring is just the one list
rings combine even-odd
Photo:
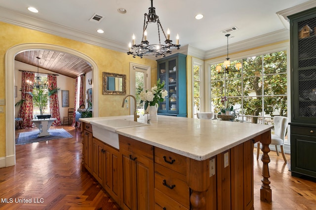
[[(147, 21), (146, 21), (147, 18)], [(158, 27), (158, 38), (159, 38), (159, 44), (149, 44), (149, 41), (147, 40), (147, 26), (149, 23), (157, 23)], [(164, 38), (166, 39), (164, 41), (165, 44), (160, 43), (160, 30), (163, 33)], [(171, 54), (170, 48), (174, 47), (179, 49), (179, 35), (177, 34), (176, 37), (176, 44), (172, 43), (172, 40), (170, 40), (170, 31), (167, 30), (167, 35), (165, 34), (164, 30), (162, 29), (162, 26), (159, 21), (159, 17), (156, 14), (156, 8), (153, 7), (153, 0), (151, 0), (151, 7), (149, 8), (148, 14), (144, 14), (144, 26), (143, 26), (143, 37), (140, 44), (135, 44), (135, 35), (133, 34), (133, 41), (132, 44), (129, 42), (129, 50), (127, 52), (127, 55), (133, 55), (133, 58), (136, 56), (143, 58), (143, 56), (162, 56), (165, 57), (165, 54)]]

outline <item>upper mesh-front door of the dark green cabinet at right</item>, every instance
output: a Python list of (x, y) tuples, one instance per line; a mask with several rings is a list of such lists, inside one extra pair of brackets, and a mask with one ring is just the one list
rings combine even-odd
[(291, 21), (292, 122), (316, 123), (316, 9), (289, 16)]

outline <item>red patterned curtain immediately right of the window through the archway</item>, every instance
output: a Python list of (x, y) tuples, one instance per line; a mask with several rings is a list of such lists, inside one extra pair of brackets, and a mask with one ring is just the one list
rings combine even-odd
[[(47, 75), (47, 84), (48, 84), (48, 89), (56, 89), (57, 88), (57, 76), (48, 74)], [(60, 112), (59, 112), (59, 100), (58, 100), (58, 95), (57, 92), (49, 96), (49, 102), (50, 102), (50, 114), (51, 118), (56, 118), (53, 122), (53, 126), (61, 125), (61, 120), (60, 120)]]

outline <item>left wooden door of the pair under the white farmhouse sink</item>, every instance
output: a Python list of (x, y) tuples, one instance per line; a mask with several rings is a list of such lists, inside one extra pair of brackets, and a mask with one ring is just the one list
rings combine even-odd
[(93, 167), (92, 167), (92, 176), (103, 185), (103, 171), (104, 171), (104, 158), (105, 150), (104, 144), (99, 140), (93, 138)]

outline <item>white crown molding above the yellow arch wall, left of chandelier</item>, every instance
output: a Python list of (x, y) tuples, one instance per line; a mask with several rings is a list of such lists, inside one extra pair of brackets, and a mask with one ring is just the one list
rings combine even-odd
[(23, 28), (37, 30), (83, 43), (104, 47), (118, 52), (127, 52), (127, 46), (122, 43), (104, 39), (93, 34), (84, 33), (79, 30), (70, 29), (68, 27), (47, 22), (2, 7), (0, 7), (0, 21), (16, 26), (21, 26)]

